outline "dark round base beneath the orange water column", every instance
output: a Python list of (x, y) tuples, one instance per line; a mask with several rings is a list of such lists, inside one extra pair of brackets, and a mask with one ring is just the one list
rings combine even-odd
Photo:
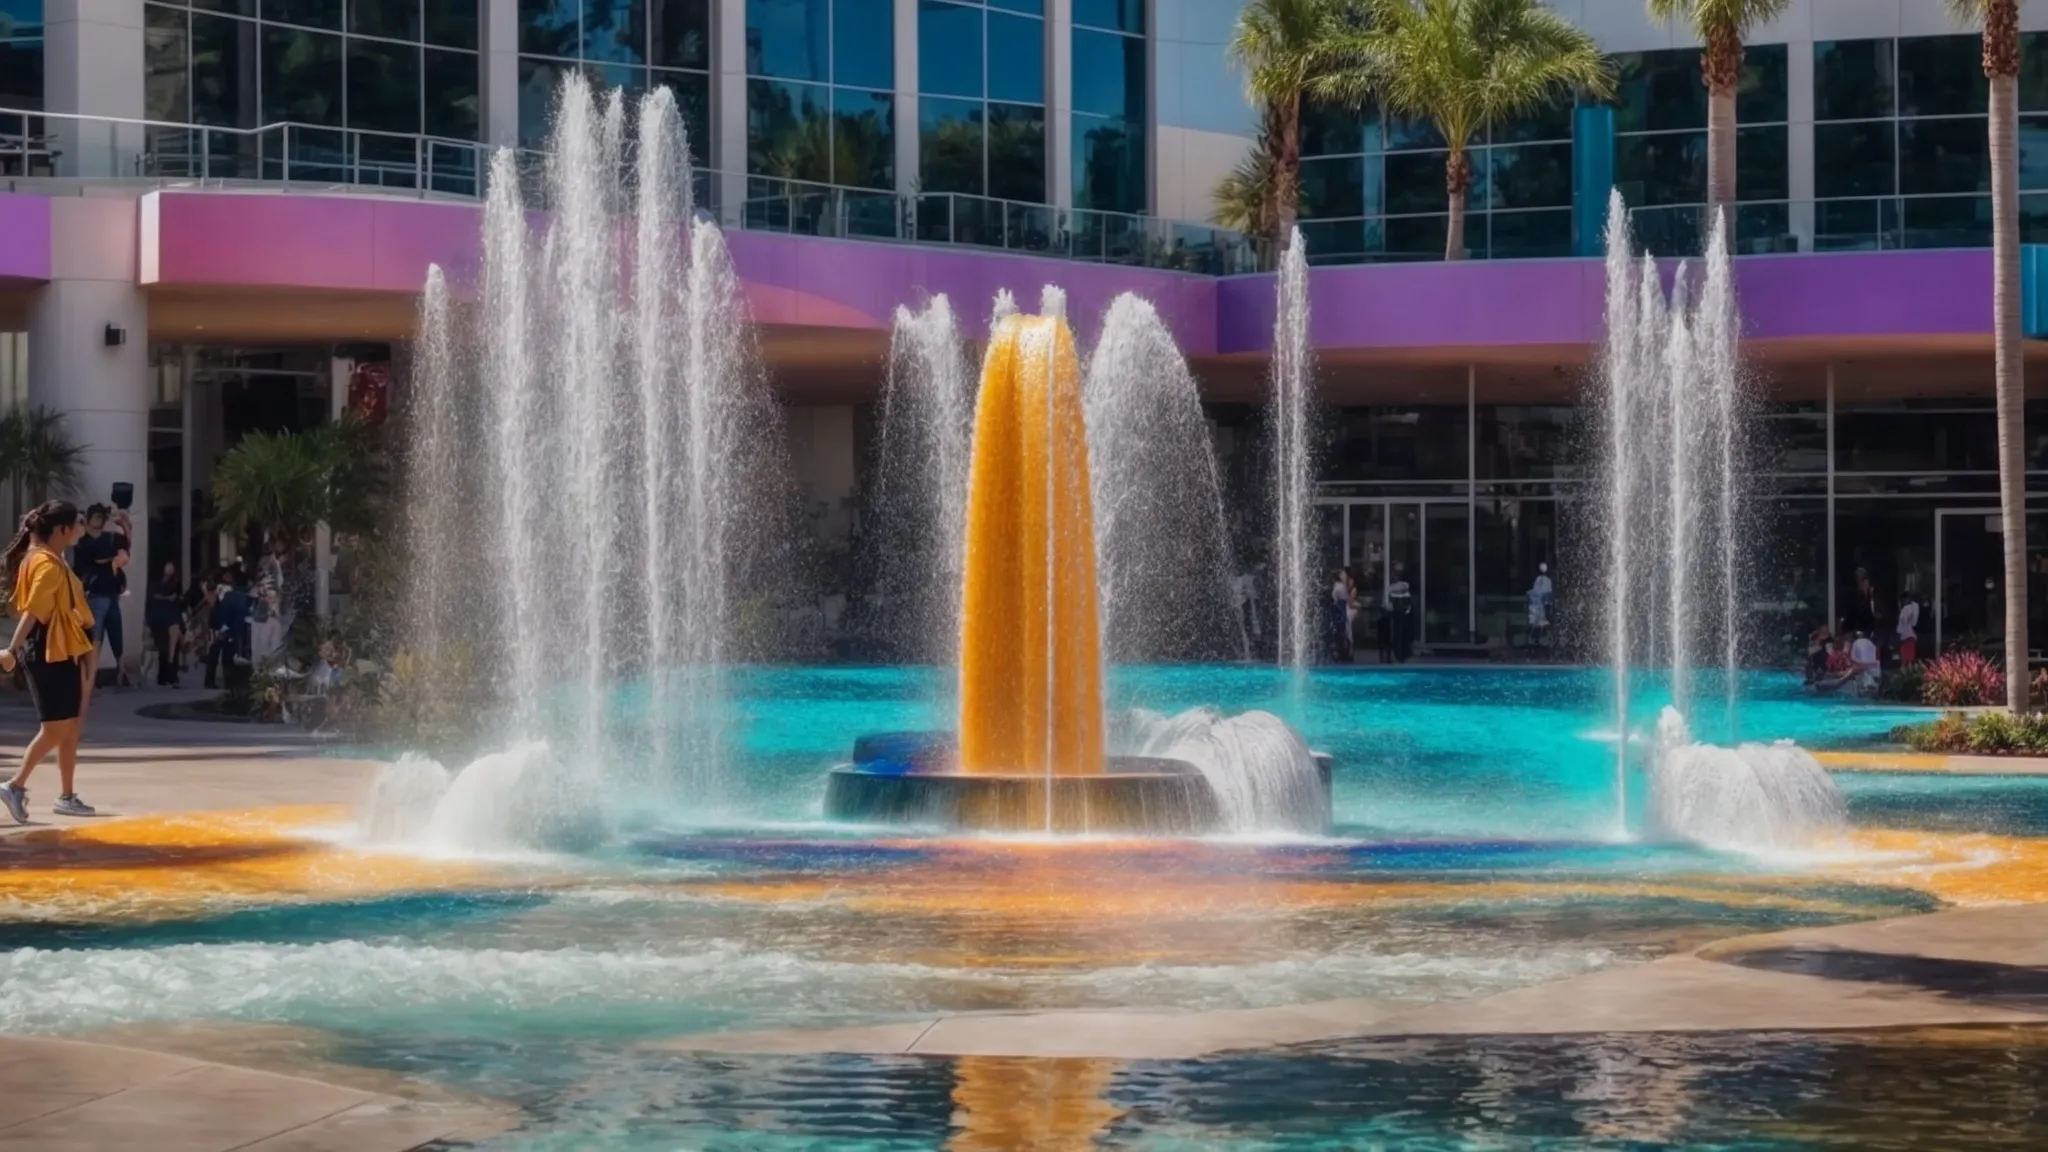
[[(1327, 773), (1323, 777), (1327, 789)], [(1047, 816), (1051, 804), (1051, 818)], [(854, 763), (831, 769), (825, 818), (979, 832), (1190, 836), (1221, 826), (1217, 793), (1194, 765), (1110, 756), (1085, 777), (965, 775), (952, 736), (889, 732), (854, 742)]]

